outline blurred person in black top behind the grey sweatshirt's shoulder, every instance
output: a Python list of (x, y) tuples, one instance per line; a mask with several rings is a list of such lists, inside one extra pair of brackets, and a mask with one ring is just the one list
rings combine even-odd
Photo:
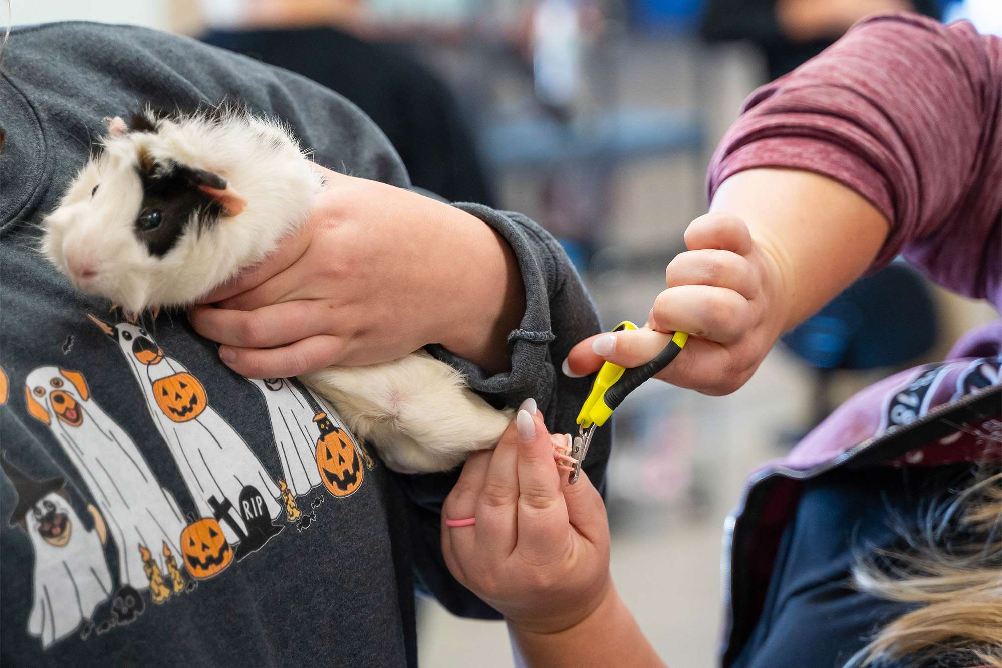
[(402, 45), (356, 33), (360, 0), (202, 0), (200, 39), (302, 74), (372, 118), (412, 185), (449, 202), (496, 207), (473, 132), (448, 85)]

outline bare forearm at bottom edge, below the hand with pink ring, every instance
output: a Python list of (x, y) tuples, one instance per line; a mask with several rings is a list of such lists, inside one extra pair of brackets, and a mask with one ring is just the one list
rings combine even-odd
[(509, 631), (515, 663), (526, 668), (664, 668), (611, 585), (594, 612), (570, 629), (539, 634), (512, 625)]

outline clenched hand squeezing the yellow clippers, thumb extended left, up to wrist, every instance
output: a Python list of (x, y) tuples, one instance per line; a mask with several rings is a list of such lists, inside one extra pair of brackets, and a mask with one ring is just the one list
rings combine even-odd
[(788, 319), (775, 253), (728, 214), (707, 214), (685, 231), (685, 246), (665, 272), (647, 327), (599, 334), (578, 343), (565, 372), (586, 375), (610, 361), (625, 367), (653, 359), (675, 331), (685, 348), (657, 378), (704, 394), (728, 394), (752, 377)]

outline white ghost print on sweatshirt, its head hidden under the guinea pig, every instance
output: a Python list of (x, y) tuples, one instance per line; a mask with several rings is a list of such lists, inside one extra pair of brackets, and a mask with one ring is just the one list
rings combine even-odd
[(247, 381), (261, 390), (268, 404), (268, 417), (272, 421), (272, 434), (286, 483), (296, 496), (309, 493), (321, 483), (314, 461), (317, 427), (313, 424), (313, 416), (317, 411), (303, 391), (286, 378), (247, 378)]

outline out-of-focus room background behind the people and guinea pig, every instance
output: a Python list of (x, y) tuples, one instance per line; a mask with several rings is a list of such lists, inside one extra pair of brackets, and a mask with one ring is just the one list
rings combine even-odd
[[(415, 185), (527, 214), (564, 244), (603, 325), (642, 322), (705, 212), (712, 149), (758, 85), (857, 19), (910, 10), (1002, 33), (998, 0), (12, 0), (203, 39), (356, 102)], [(997, 317), (901, 264), (788, 335), (721, 398), (650, 383), (617, 411), (612, 571), (661, 657), (713, 661), (721, 530), (744, 476), (834, 405)], [(419, 607), (423, 665), (510, 666), (504, 626)], [(335, 639), (335, 642), (337, 640)]]

